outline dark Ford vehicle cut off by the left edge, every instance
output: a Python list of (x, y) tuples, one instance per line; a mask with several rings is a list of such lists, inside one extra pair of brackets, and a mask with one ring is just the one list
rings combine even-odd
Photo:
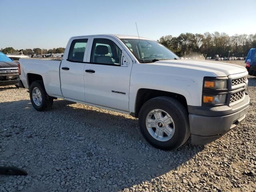
[(0, 86), (16, 85), (18, 87), (18, 64), (0, 52)]

